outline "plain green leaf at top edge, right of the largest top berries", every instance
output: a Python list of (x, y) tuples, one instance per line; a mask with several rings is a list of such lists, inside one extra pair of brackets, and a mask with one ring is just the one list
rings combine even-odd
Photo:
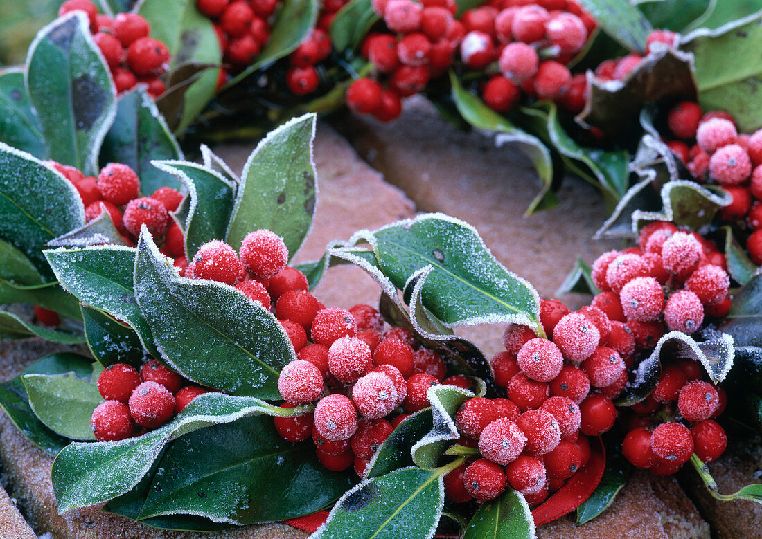
[(604, 31), (627, 49), (643, 52), (653, 28), (627, 0), (580, 0)]

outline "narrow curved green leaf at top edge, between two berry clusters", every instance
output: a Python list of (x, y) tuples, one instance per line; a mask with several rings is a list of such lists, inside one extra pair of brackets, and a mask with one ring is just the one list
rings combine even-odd
[(270, 40), (259, 53), (257, 61), (235, 75), (225, 88), (237, 85), (251, 73), (293, 53), (299, 43), (302, 43), (302, 40), (315, 27), (318, 12), (319, 5), (315, 0), (283, 0), (280, 13), (272, 27)]

